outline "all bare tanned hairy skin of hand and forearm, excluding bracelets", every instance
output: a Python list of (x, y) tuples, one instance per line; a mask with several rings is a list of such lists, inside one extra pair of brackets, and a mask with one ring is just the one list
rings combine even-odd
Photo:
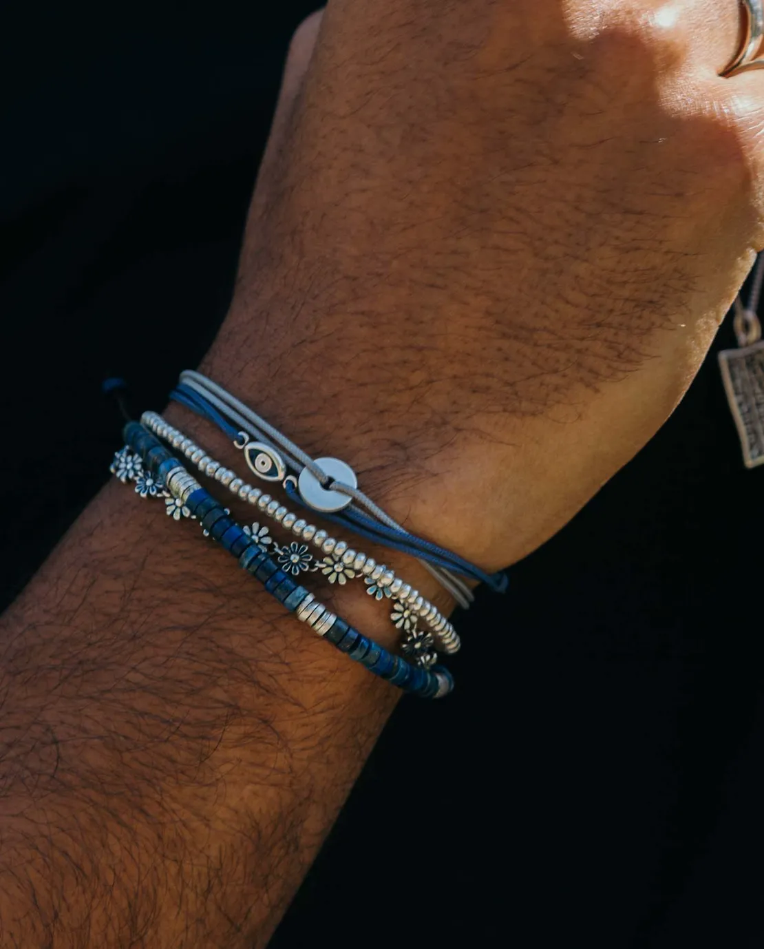
[[(764, 244), (738, 30), (735, 0), (331, 0), (202, 369), (412, 530), (517, 561), (662, 424)], [(335, 604), (392, 645), (369, 600)], [(0, 947), (263, 946), (396, 700), (109, 485), (0, 632)]]

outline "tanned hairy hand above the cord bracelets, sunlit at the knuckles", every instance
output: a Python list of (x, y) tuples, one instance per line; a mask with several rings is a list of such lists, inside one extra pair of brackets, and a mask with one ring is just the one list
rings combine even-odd
[(412, 530), (535, 549), (670, 414), (764, 245), (738, 30), (734, 0), (332, 0), (204, 368)]

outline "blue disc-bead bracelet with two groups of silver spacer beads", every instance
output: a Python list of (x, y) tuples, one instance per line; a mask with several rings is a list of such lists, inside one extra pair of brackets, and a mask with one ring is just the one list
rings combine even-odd
[(290, 612), (297, 614), (302, 622), (311, 625), (323, 639), (360, 662), (375, 676), (411, 695), (441, 698), (451, 692), (454, 682), (445, 667), (418, 668), (363, 636), (318, 604), (313, 594), (283, 572), (147, 428), (131, 421), (125, 425), (123, 434), (127, 445), (140, 456), (155, 480), (167, 485), (173, 496), (179, 498), (191, 515), (199, 520), (203, 529), (237, 557), (242, 568), (259, 580)]

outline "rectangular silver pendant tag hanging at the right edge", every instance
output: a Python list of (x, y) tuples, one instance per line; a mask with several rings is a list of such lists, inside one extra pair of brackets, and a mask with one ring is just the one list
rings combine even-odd
[(746, 468), (764, 464), (764, 342), (719, 353)]

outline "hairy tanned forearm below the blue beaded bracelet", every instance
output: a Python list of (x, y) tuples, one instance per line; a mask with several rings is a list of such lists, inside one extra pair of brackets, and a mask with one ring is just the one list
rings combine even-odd
[(4, 619), (3, 945), (263, 940), (391, 711), (160, 508), (107, 488)]

